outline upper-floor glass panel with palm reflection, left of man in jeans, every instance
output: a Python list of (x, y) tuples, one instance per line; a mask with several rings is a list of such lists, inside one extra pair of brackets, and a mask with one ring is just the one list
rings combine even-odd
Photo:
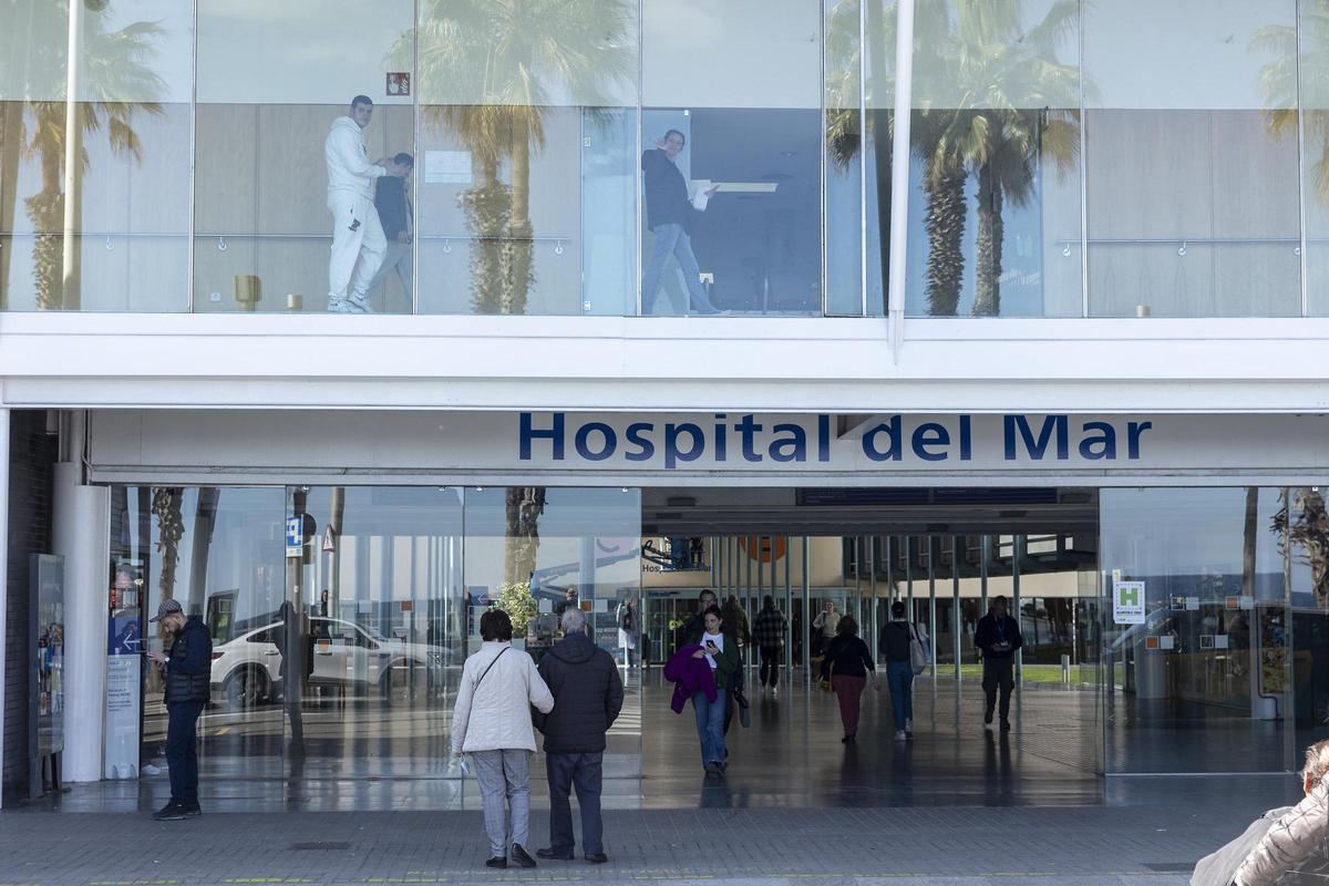
[(526, 12), (420, 4), (421, 311), (622, 313), (635, 300), (635, 3)]

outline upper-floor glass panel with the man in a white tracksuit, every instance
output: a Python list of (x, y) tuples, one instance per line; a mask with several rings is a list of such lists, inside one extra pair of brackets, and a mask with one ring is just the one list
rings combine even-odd
[[(334, 287), (375, 312), (411, 310), (413, 175), (356, 175), (330, 191), (324, 139), (363, 94), (372, 118), (351, 132), (365, 159), (415, 153), (413, 25), (411, 0), (199, 1), (195, 311), (324, 311)], [(330, 260), (342, 215), (363, 234), (338, 239)]]

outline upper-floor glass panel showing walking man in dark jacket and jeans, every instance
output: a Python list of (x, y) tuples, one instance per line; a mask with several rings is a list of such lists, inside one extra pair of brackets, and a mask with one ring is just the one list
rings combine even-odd
[(643, 313), (820, 315), (819, 5), (646, 0), (642, 16)]

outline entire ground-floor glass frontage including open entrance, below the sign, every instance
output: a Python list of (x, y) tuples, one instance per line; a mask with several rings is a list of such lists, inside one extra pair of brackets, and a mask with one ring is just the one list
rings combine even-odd
[[(432, 778), (447, 794), (460, 790), (444, 784), (460, 774), (452, 703), (485, 608), (512, 614), (538, 659), (575, 600), (622, 664), (662, 664), (699, 587), (747, 612), (772, 595), (791, 622), (785, 663), (804, 669), (809, 615), (833, 604), (877, 638), (898, 600), (932, 638), (930, 679), (966, 685), (981, 673), (977, 622), (1002, 595), (1023, 635), (1022, 693), (1038, 693), (1026, 709), (1055, 715), (1026, 733), (1035, 753), (1108, 774), (1296, 769), (1329, 712), (1321, 489), (1071, 498), (1059, 531), (800, 543), (643, 537), (642, 490), (617, 486), (114, 486), (106, 776), (159, 774), (162, 687), (138, 654), (166, 643), (146, 622), (165, 596), (213, 634), (209, 773)], [(643, 627), (631, 654), (618, 620), (630, 599)], [(605, 765), (635, 780), (657, 715), (641, 693), (667, 684), (626, 683)]]

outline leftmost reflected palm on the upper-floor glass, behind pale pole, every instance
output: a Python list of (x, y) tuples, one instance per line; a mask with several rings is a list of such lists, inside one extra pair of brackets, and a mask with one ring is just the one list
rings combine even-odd
[[(33, 243), (33, 288), (36, 306), (41, 310), (77, 310), (81, 299), (77, 279), (76, 243), (66, 243), (62, 227), (65, 218), (77, 221), (82, 209), (82, 171), (88, 167), (84, 138), (105, 130), (112, 150), (128, 153), (142, 161), (142, 143), (133, 128), (136, 112), (161, 114), (162, 108), (152, 101), (125, 101), (125, 96), (161, 94), (165, 81), (153, 72), (152, 58), (157, 54), (153, 41), (162, 29), (155, 23), (136, 21), (118, 31), (105, 29), (105, 4), (85, 3), (82, 9), (70, 9), (69, 0), (48, 3), (20, 3), (20, 13), (8, 19), (16, 21), (15, 37), (21, 35), (20, 52), (7, 53), (5, 64), (19, 64), (21, 81), (28, 94), (51, 96), (24, 102), (19, 120), (19, 146), (27, 158), (36, 158), (41, 167), (41, 190), (24, 205), (32, 219), (36, 238)], [(82, 94), (90, 101), (78, 101), (70, 109), (68, 100), (66, 58), (69, 17), (81, 23)], [(21, 17), (20, 17), (21, 16)], [(5, 82), (13, 82), (8, 78)], [(72, 110), (72, 113), (70, 113)], [(70, 122), (74, 124), (69, 133)], [(61, 181), (70, 178), (73, 181)], [(0, 193), (13, 193), (11, 177), (17, 166), (7, 166)], [(65, 256), (65, 250), (70, 255)], [(73, 260), (70, 260), (73, 259)]]

